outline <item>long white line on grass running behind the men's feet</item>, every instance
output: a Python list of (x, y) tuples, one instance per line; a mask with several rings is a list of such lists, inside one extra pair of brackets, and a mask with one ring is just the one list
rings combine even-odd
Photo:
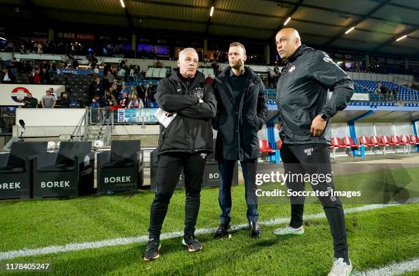
[[(409, 203), (416, 203), (419, 202), (419, 197), (414, 199), (409, 199)], [(345, 214), (350, 214), (353, 212), (364, 212), (369, 210), (376, 210), (381, 208), (388, 208), (392, 206), (399, 206), (400, 204), (370, 204), (364, 205), (361, 207), (356, 208), (346, 208)], [(322, 219), (326, 217), (324, 212), (320, 212), (318, 214), (313, 215), (305, 215), (303, 219)], [(271, 219), (269, 221), (261, 221), (261, 225), (277, 225), (281, 223), (288, 223), (290, 221), (289, 218), (281, 218), (281, 219)], [(245, 227), (249, 227), (247, 223), (234, 225), (231, 227), (231, 230), (240, 230)], [(212, 228), (201, 228), (195, 231), (195, 234), (210, 234), (216, 231), (216, 227)], [(179, 238), (183, 236), (183, 231), (179, 232), (168, 232), (162, 234), (160, 236), (161, 240), (166, 240), (170, 238)], [(13, 258), (19, 257), (27, 257), (27, 256), (38, 256), (38, 255), (45, 255), (51, 253), (60, 253), (60, 252), (70, 252), (70, 251), (77, 251), (77, 250), (84, 250), (84, 249), (93, 249), (93, 248), (101, 248), (101, 247), (109, 247), (109, 246), (116, 246), (116, 245), (130, 245), (133, 243), (145, 243), (149, 240), (148, 235), (144, 236), (137, 236), (137, 237), (129, 237), (129, 238), (112, 238), (110, 240), (98, 240), (95, 242), (88, 242), (88, 243), (69, 243), (67, 245), (58, 245), (58, 246), (49, 246), (49, 247), (42, 247), (36, 249), (20, 249), (15, 251), (5, 251), (0, 252), (0, 260), (8, 260)]]

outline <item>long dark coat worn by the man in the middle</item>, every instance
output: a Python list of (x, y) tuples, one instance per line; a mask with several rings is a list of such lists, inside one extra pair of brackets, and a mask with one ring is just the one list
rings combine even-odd
[(225, 68), (216, 78), (214, 86), (218, 102), (216, 158), (227, 160), (253, 159), (260, 156), (257, 131), (262, 129), (268, 107), (265, 104), (264, 84), (249, 67), (240, 102), (236, 102), (230, 84), (231, 67)]

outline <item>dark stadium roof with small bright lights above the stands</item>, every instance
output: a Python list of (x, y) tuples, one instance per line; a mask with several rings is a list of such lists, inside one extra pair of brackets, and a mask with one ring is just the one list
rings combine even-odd
[[(286, 25), (303, 43), (370, 53), (419, 55), (419, 1), (412, 0), (0, 0), (0, 16), (47, 23), (106, 23), (132, 29), (272, 42)], [(214, 14), (210, 16), (211, 7)], [(19, 12), (14, 10), (19, 8)], [(345, 33), (354, 27), (349, 33)], [(396, 42), (397, 38), (407, 36)]]

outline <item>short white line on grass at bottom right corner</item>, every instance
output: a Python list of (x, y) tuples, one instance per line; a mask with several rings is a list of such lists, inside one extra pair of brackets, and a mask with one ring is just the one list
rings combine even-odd
[(401, 275), (407, 272), (419, 271), (419, 258), (405, 262), (396, 262), (381, 268), (371, 269), (369, 271), (354, 271), (353, 276), (387, 276)]

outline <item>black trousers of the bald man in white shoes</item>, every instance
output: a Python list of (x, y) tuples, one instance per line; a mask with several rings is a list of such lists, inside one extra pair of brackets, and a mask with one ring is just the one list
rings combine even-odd
[[(304, 145), (283, 144), (281, 147), (281, 159), (285, 174), (318, 174), (331, 175), (330, 149), (327, 144), (308, 143)], [(311, 178), (314, 179), (314, 178)], [(320, 180), (320, 178), (319, 178)], [(333, 178), (329, 181), (312, 180), (313, 191), (335, 191)], [(331, 180), (331, 181), (330, 181)], [(287, 181), (288, 189), (292, 191), (304, 191), (305, 182), (298, 177), (290, 178)], [(290, 197), (291, 200), (291, 222), (290, 226), (298, 228), (303, 225), (304, 197)], [(329, 221), (331, 234), (333, 236), (333, 248), (335, 258), (348, 258), (348, 243), (346, 241), (346, 227), (344, 210), (339, 197), (323, 196), (318, 197), (322, 203), (327, 220)]]

